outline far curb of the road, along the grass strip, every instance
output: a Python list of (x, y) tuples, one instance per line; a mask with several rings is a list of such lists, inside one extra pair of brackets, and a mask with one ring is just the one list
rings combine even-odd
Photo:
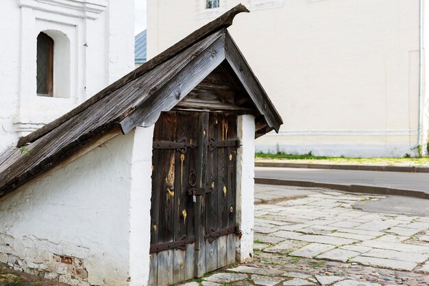
[(305, 163), (275, 163), (255, 162), (255, 167), (282, 167), (304, 169), (336, 169), (357, 171), (399, 171), (406, 173), (429, 173), (429, 167), (400, 167), (400, 166), (370, 166), (370, 165), (330, 165), (330, 164), (305, 164)]

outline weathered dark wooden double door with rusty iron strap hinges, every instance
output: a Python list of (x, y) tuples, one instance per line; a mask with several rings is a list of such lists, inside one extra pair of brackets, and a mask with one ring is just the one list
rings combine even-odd
[(234, 263), (236, 115), (163, 112), (152, 157), (149, 285)]

